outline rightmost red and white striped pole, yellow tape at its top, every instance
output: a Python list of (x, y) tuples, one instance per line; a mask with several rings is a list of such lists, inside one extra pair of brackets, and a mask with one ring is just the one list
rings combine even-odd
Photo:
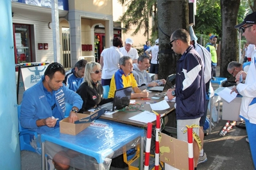
[(194, 156), (193, 156), (193, 136), (192, 136), (192, 127), (187, 127), (187, 142), (189, 148), (189, 170), (194, 169)]

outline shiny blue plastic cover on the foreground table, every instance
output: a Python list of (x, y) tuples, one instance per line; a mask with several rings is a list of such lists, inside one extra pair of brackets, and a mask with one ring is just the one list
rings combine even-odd
[(77, 135), (61, 134), (56, 128), (42, 134), (41, 141), (90, 155), (100, 164), (110, 153), (141, 136), (144, 137), (143, 128), (99, 119)]

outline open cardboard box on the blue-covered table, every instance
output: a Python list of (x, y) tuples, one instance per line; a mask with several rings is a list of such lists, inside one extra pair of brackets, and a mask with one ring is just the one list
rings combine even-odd
[(95, 112), (91, 112), (90, 114), (81, 114), (78, 113), (78, 121), (74, 123), (69, 123), (69, 118), (65, 118), (60, 121), (60, 133), (62, 134), (70, 134), (76, 135), (80, 133), (82, 130), (90, 126), (90, 122), (99, 118), (102, 114), (104, 114), (104, 110), (100, 109)]

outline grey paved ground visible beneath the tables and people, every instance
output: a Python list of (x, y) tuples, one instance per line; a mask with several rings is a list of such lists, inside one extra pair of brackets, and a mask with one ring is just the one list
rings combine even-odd
[[(218, 88), (214, 85), (214, 88)], [(221, 112), (220, 112), (221, 117)], [(204, 150), (207, 153), (207, 162), (198, 165), (198, 170), (224, 170), (224, 169), (254, 169), (249, 144), (245, 141), (246, 130), (234, 127), (225, 137), (219, 135), (225, 125), (225, 120), (214, 123), (212, 133), (205, 137)], [(30, 151), (21, 151), (22, 170), (41, 169), (40, 156)], [(118, 168), (112, 168), (117, 170)], [(125, 169), (128, 169), (126, 167)], [(121, 170), (121, 169), (119, 169)]]

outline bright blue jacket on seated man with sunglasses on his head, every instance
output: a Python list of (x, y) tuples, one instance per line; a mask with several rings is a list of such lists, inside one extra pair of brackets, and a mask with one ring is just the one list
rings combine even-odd
[[(53, 116), (51, 105), (47, 102), (46, 94), (44, 93), (43, 80), (44, 76), (42, 76), (40, 82), (24, 91), (21, 103), (21, 117), (19, 118), (22, 127), (29, 128), (38, 134), (53, 130), (53, 128), (47, 126), (37, 127), (36, 123), (37, 120)], [(55, 97), (56, 107), (60, 111), (62, 119), (65, 118), (65, 102), (78, 107), (78, 109), (81, 109), (83, 104), (80, 95), (66, 86), (59, 88), (55, 93)]]

